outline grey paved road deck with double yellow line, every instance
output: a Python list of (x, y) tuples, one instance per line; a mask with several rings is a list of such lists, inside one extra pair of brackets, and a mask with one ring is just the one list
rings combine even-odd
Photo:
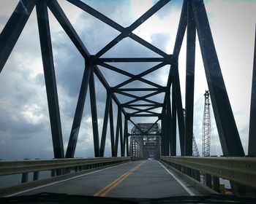
[(198, 195), (195, 189), (186, 187), (188, 185), (184, 181), (175, 177), (157, 160), (143, 160), (96, 170), (17, 195), (34, 195), (40, 192), (143, 198)]

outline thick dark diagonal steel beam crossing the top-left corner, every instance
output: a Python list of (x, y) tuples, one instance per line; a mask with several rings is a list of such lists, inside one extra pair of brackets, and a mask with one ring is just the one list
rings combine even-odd
[[(23, 0), (19, 1), (17, 7), (15, 7), (14, 12), (10, 19), (8, 20), (6, 26), (4, 26), (3, 31), (0, 35), (0, 73), (4, 68), (7, 59), (9, 58), (13, 47), (15, 46), (18, 38), (20, 37), (29, 16), (34, 9), (34, 5), (37, 1), (34, 0)], [(2, 5), (3, 6), (3, 5)]]

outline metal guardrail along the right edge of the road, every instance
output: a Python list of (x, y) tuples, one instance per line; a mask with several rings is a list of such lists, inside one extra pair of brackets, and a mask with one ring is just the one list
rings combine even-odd
[[(256, 188), (255, 157), (161, 157), (174, 168), (181, 165)], [(175, 167), (176, 166), (176, 167)]]

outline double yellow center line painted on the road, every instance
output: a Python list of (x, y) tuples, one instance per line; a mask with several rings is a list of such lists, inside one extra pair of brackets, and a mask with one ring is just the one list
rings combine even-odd
[(138, 164), (137, 166), (135, 166), (131, 170), (127, 171), (127, 173), (124, 173), (122, 176), (116, 178), (115, 181), (108, 184), (107, 187), (104, 187), (99, 192), (95, 193), (94, 196), (105, 197), (113, 188), (115, 188), (118, 184), (120, 184), (121, 181), (124, 181), (124, 179), (127, 178), (127, 176), (129, 176), (132, 172), (134, 172), (135, 170), (140, 168), (140, 166), (143, 165), (144, 163), (145, 162), (141, 162), (140, 164)]

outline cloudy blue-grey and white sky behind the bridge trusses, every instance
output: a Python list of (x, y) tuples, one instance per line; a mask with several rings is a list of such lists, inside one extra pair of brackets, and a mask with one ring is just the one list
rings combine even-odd
[[(83, 1), (124, 27), (131, 25), (157, 2), (151, 0)], [(170, 1), (156, 15), (146, 20), (133, 32), (167, 54), (171, 54), (181, 13), (181, 3), (179, 0)], [(18, 0), (2, 0), (0, 4), (1, 31), (16, 4), (18, 4)], [(119, 34), (115, 29), (91, 17), (69, 2), (59, 0), (59, 4), (92, 55)], [(206, 10), (227, 93), (230, 97), (244, 151), (247, 152), (256, 1), (208, 0), (206, 1)], [(84, 60), (50, 11), (49, 16), (64, 149), (66, 150), (83, 75)], [(194, 133), (197, 145), (201, 149), (203, 93), (208, 90), (208, 87), (198, 42), (196, 46)], [(182, 44), (179, 58), (183, 105), (185, 102), (185, 51), (186, 40)], [(103, 56), (118, 58), (157, 57), (158, 55), (127, 38), (121, 40)], [(143, 66), (137, 63), (128, 64), (128, 66), (124, 63), (116, 63), (115, 66), (124, 70), (129, 69), (132, 74), (139, 74), (146, 68), (154, 66), (154, 63), (147, 63)], [(108, 71), (102, 67), (99, 68), (109, 79), (110, 86), (128, 79), (121, 74), (115, 74), (113, 71)], [(144, 78), (159, 85), (165, 85), (168, 71), (169, 67), (165, 66)], [(97, 76), (95, 76), (95, 80), (100, 136), (106, 93)], [(145, 87), (138, 82), (127, 85), (127, 87), (138, 86)], [(140, 93), (136, 94), (140, 95)], [(121, 97), (121, 95), (118, 95), (118, 98), (121, 103), (130, 99)], [(157, 95), (154, 99), (161, 102), (163, 95)], [(89, 101), (88, 94), (75, 157), (94, 155)], [(114, 106), (114, 116), (116, 118), (116, 106)], [(154, 122), (155, 120), (154, 118), (134, 119), (135, 122)], [(215, 145), (212, 145), (211, 148), (212, 154), (222, 154), (213, 114), (212, 121), (214, 133), (212, 141), (215, 141), (213, 143)], [(116, 123), (116, 120), (114, 122)], [(129, 130), (131, 128), (132, 125), (129, 124)], [(110, 155), (109, 134), (106, 145), (106, 156), (108, 156)], [(53, 147), (50, 136), (48, 104), (39, 47), (37, 17), (34, 10), (0, 74), (0, 158), (9, 160), (52, 157)]]

